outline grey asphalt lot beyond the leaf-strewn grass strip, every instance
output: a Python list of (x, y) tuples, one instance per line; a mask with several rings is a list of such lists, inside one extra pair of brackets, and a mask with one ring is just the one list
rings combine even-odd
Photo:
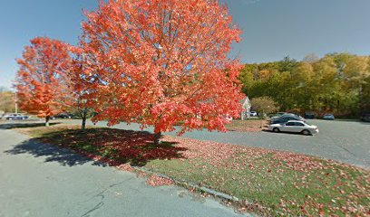
[[(68, 122), (80, 124), (79, 120)], [(307, 120), (307, 122), (319, 128), (320, 132), (316, 136), (306, 137), (271, 132), (234, 131), (222, 133), (196, 130), (186, 133), (183, 137), (303, 153), (370, 169), (370, 123), (316, 119)], [(89, 124), (92, 125), (90, 121)], [(106, 122), (99, 122), (97, 125), (106, 127)], [(121, 123), (113, 127), (141, 130), (137, 124), (127, 126), (125, 123)], [(152, 132), (153, 128), (148, 127), (145, 130)], [(174, 132), (166, 134), (176, 135)]]

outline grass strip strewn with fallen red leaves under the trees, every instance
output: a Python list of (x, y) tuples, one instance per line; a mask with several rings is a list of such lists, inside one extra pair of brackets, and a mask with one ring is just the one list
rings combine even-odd
[(142, 166), (239, 198), (240, 210), (266, 216), (366, 216), (370, 172), (313, 156), (185, 137), (78, 126), (17, 129), (44, 143), (67, 146), (120, 164)]

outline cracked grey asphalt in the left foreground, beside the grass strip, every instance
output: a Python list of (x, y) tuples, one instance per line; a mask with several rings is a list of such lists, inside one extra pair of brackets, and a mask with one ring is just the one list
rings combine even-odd
[(0, 217), (239, 216), (175, 187), (0, 129)]

